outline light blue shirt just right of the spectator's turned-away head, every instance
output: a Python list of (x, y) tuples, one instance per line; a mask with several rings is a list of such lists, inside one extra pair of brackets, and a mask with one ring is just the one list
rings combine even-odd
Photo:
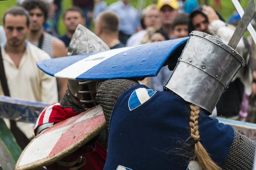
[(125, 6), (122, 1), (118, 1), (108, 6), (107, 10), (115, 12), (119, 17), (119, 31), (132, 35), (137, 28), (141, 28), (140, 14), (133, 6)]

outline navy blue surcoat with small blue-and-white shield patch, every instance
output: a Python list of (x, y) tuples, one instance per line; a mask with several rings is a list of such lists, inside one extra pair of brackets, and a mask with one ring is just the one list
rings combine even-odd
[[(111, 114), (104, 170), (116, 170), (119, 165), (132, 170), (186, 170), (189, 161), (175, 148), (189, 152), (184, 143), (193, 144), (191, 139), (186, 142), (190, 137), (189, 113), (188, 102), (168, 91), (152, 91), (145, 85), (128, 88)], [(233, 143), (233, 127), (202, 111), (198, 126), (201, 144), (222, 166)]]

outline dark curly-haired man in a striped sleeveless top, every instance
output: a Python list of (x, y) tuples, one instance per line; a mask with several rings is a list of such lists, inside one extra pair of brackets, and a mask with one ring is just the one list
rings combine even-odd
[[(43, 31), (48, 18), (47, 3), (41, 0), (25, 0), (21, 6), (29, 11), (31, 26), (27, 39), (47, 52), (51, 58), (67, 56), (67, 48), (61, 40)], [(67, 80), (58, 79), (59, 99), (67, 90)]]

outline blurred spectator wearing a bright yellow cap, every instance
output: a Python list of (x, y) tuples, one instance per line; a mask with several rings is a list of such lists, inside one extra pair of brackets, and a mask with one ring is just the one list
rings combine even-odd
[(172, 33), (172, 22), (179, 12), (179, 3), (177, 0), (158, 0), (157, 7), (160, 10), (162, 19), (161, 31), (168, 35), (169, 39), (174, 38)]

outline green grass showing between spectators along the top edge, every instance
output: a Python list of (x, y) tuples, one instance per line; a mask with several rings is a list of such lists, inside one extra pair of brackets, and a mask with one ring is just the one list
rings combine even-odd
[[(111, 4), (113, 2), (116, 2), (117, 0), (106, 0), (107, 4)], [(145, 1), (145, 4), (150, 4), (150, 3), (153, 3), (153, 2), (156, 2), (156, 0), (144, 0)], [(137, 7), (137, 2), (138, 0), (130, 0), (131, 4), (134, 6), (134, 7)], [(199, 2), (202, 4), (204, 2), (204, 0), (199, 0)], [(249, 4), (250, 0), (240, 0), (240, 3), (241, 3), (241, 6), (243, 8), (246, 8), (247, 5)], [(218, 12), (224, 17), (225, 20), (227, 20), (235, 11), (235, 7), (233, 6), (233, 3), (231, 0), (221, 0), (221, 3), (222, 3), (222, 10)], [(0, 25), (2, 23), (2, 17), (3, 17), (3, 14), (4, 12), (12, 7), (12, 6), (15, 6), (16, 5), (16, 0), (4, 0), (4, 1), (0, 1)], [(72, 6), (72, 1), (71, 0), (63, 0), (63, 10), (69, 8)], [(212, 6), (212, 0), (209, 0), (209, 5)], [(93, 29), (93, 28), (92, 28)], [(63, 26), (63, 22), (62, 22), (62, 18), (60, 17), (60, 22), (59, 22), (59, 31), (60, 31), (60, 34), (63, 35), (66, 30)], [(248, 32), (245, 33), (245, 35), (249, 35)]]

